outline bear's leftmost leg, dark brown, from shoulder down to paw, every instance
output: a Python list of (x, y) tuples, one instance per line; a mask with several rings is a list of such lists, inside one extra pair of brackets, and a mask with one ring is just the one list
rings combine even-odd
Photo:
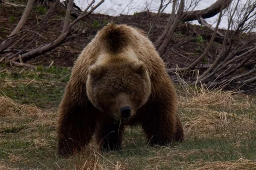
[(59, 107), (58, 153), (73, 155), (90, 141), (95, 131), (98, 112), (84, 91), (68, 86)]

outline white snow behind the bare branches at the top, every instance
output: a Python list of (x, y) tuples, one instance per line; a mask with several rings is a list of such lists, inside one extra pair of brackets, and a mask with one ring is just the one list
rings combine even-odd
[[(94, 4), (99, 3), (100, 0), (95, 0)], [(189, 8), (189, 5), (191, 2), (199, 1), (198, 4), (195, 6), (191, 6)], [(250, 0), (241, 0), (241, 6), (244, 6), (244, 4)], [(76, 3), (77, 6), (81, 8), (81, 10), (84, 10), (87, 5), (91, 2), (91, 0), (74, 0), (74, 3)], [(164, 0), (164, 2), (168, 2), (168, 0)], [(215, 3), (216, 0), (185, 0), (185, 10), (192, 11), (192, 10), (200, 10), (209, 7), (212, 3)], [(232, 5), (235, 4), (237, 0), (233, 0)], [(107, 14), (111, 16), (118, 16), (119, 14), (129, 14), (132, 15), (134, 12), (141, 12), (145, 10), (149, 10), (151, 12), (157, 12), (158, 8), (160, 6), (160, 0), (105, 0), (104, 3), (102, 3), (95, 11), (94, 13), (100, 13), (100, 14)], [(170, 3), (164, 10), (165, 13), (171, 13), (172, 11), (172, 3)], [(216, 26), (218, 20), (218, 14), (214, 17), (207, 18), (207, 23), (211, 24), (213, 27)], [(192, 21), (192, 24), (197, 24), (197, 20)], [(227, 28), (228, 25), (228, 17), (227, 12), (225, 10), (224, 16), (221, 19), (221, 23), (219, 25), (219, 28)], [(256, 31), (256, 28), (254, 29)]]

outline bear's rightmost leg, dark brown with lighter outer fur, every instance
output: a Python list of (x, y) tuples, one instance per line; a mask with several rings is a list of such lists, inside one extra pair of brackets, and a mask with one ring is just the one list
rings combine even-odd
[(168, 145), (182, 141), (183, 127), (177, 115), (177, 99), (174, 87), (166, 83), (156, 88), (154, 98), (143, 106), (142, 128), (151, 145)]

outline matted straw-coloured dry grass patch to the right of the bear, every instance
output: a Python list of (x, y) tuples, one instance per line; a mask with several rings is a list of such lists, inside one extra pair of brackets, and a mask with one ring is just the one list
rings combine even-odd
[(180, 95), (178, 105), (186, 136), (227, 137), (234, 129), (237, 134), (255, 130), (255, 121), (247, 114), (254, 108), (249, 96), (222, 89), (209, 91), (204, 85), (192, 88), (181, 78), (180, 85), (184, 93)]

